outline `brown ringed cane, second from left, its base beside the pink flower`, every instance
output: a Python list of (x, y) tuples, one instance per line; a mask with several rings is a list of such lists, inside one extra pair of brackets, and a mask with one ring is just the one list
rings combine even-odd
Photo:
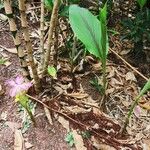
[(34, 58), (33, 58), (33, 48), (32, 48), (32, 43), (30, 41), (29, 29), (28, 29), (27, 19), (26, 19), (25, 0), (18, 0), (18, 2), (19, 2), (19, 11), (21, 15), (21, 25), (23, 29), (23, 36), (26, 42), (25, 46), (27, 49), (28, 61), (29, 61), (29, 65), (31, 67), (31, 71), (33, 74), (35, 90), (36, 92), (39, 92), (41, 85), (40, 85), (40, 79), (38, 77), (36, 65), (34, 63)]

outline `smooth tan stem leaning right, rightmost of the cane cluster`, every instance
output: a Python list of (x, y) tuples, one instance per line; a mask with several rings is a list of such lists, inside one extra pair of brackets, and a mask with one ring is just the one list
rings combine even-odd
[(52, 37), (53, 37), (53, 31), (54, 31), (55, 25), (56, 25), (56, 19), (57, 19), (57, 16), (58, 16), (59, 1), (60, 0), (55, 0), (54, 1), (54, 6), (53, 6), (51, 20), (50, 20), (50, 28), (49, 28), (48, 41), (47, 41), (48, 44), (47, 44), (47, 49), (46, 49), (46, 54), (45, 54), (45, 59), (44, 59), (44, 66), (43, 66), (42, 76), (44, 76), (46, 74), (47, 67), (48, 67), (49, 60), (50, 60)]

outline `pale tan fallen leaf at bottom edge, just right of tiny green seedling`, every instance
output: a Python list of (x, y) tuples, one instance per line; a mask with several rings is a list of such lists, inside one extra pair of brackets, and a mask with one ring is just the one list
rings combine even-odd
[(77, 150), (87, 150), (87, 148), (84, 146), (83, 138), (81, 135), (77, 133), (76, 130), (72, 131), (73, 138), (74, 138), (74, 144)]

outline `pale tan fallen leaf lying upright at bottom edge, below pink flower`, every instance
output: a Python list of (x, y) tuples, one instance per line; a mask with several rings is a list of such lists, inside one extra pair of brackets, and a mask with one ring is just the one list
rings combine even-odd
[(21, 130), (15, 130), (14, 138), (14, 150), (25, 150)]

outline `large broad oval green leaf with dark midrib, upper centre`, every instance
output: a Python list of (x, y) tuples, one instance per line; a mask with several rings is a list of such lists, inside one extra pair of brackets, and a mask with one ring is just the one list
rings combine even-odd
[(86, 49), (96, 57), (103, 59), (100, 21), (89, 10), (77, 5), (70, 6), (69, 20), (72, 30)]

